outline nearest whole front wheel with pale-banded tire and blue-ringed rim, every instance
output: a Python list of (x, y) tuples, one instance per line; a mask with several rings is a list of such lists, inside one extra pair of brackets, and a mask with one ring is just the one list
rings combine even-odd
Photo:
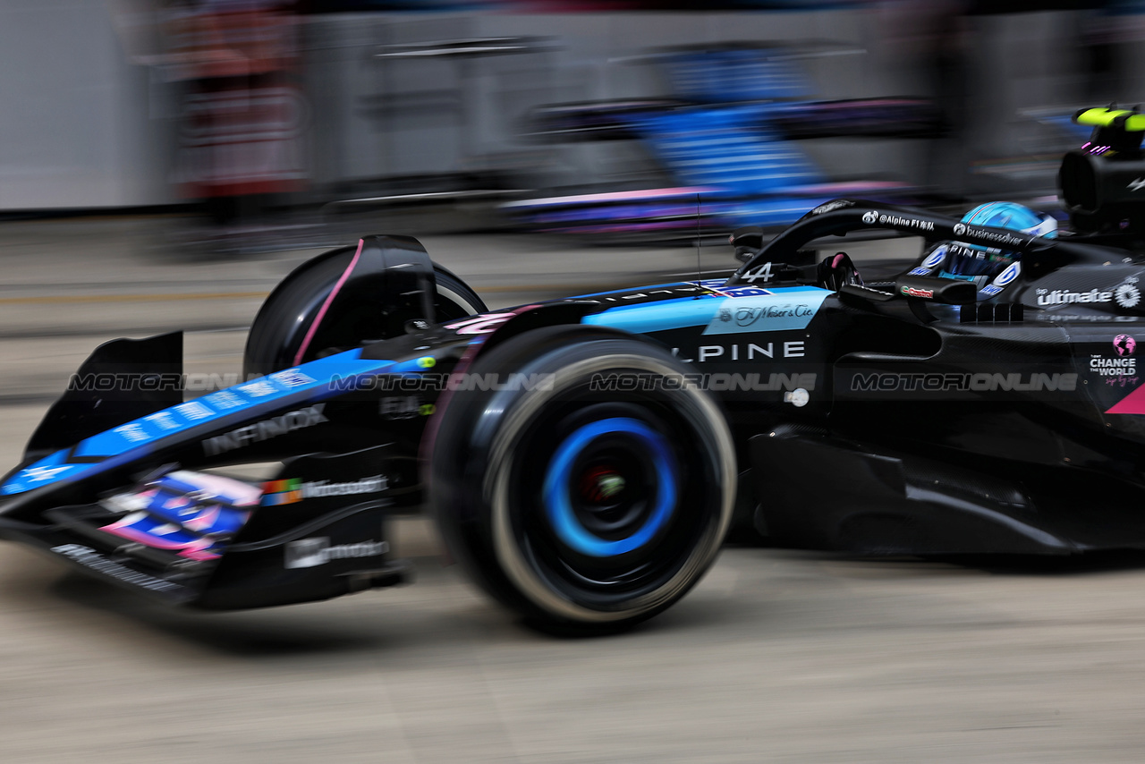
[(656, 615), (704, 575), (735, 499), (722, 410), (695, 386), (599, 384), (679, 381), (688, 367), (632, 334), (572, 325), (508, 339), (467, 371), (507, 384), (443, 402), (429, 490), (451, 556), (485, 591), (543, 631), (592, 635)]

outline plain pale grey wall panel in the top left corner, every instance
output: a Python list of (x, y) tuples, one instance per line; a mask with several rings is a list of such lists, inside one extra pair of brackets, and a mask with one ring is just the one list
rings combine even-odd
[(94, 0), (0, 2), (0, 210), (169, 199), (150, 72)]

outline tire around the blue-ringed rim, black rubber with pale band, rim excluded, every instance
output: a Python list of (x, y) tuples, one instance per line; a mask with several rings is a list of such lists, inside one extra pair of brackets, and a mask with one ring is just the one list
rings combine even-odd
[[(451, 551), (471, 569), (475, 568), (479, 582), (491, 593), (548, 623), (616, 628), (650, 617), (682, 597), (714, 561), (735, 498), (735, 450), (724, 413), (711, 395), (694, 386), (681, 386), (662, 394), (660, 402), (670, 404), (688, 432), (703, 441), (695, 452), (710, 459), (702, 472), (713, 483), (706, 490), (718, 494), (710, 505), (714, 509), (706, 504), (676, 507), (676, 512), (698, 512), (697, 517), (702, 517), (686, 559), (655, 589), (624, 600), (622, 606), (577, 601), (546, 581), (530, 551), (522, 548), (514, 519), (521, 510), (513, 503), (512, 481), (522, 434), (562, 395), (583, 389), (599, 373), (619, 370), (684, 375), (688, 368), (632, 334), (587, 326), (535, 330), (507, 340), (483, 361), (474, 364), (475, 373), (482, 370), (518, 372), (524, 377), (544, 373), (552, 375), (553, 384), (532, 389), (468, 393), (445, 409), (444, 416), (455, 422), (448, 427), (443, 423), (439, 436), (452, 442), (439, 441), (435, 446), (431, 488), (440, 499), (435, 501), (435, 509)], [(439, 448), (442, 455), (437, 454)], [(444, 467), (445, 464), (449, 466)], [(437, 468), (439, 465), (444, 468)], [(451, 485), (443, 486), (443, 481)], [(451, 505), (442, 506), (442, 502)], [(537, 506), (524, 511), (539, 510)]]

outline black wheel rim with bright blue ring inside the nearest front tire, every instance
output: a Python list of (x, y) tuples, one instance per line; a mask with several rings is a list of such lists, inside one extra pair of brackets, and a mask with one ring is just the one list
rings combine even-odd
[(561, 399), (521, 433), (507, 496), (514, 545), (561, 597), (623, 609), (686, 566), (710, 522), (700, 487), (711, 475), (664, 401)]

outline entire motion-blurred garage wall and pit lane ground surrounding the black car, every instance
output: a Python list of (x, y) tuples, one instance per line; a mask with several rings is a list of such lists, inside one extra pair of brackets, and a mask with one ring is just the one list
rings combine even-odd
[[(1142, 14), (3, 0), (0, 462), (102, 341), (183, 330), (189, 375), (239, 372), (274, 285), (362, 234), (418, 236), (499, 307), (729, 273), (720, 234), (836, 196), (1055, 210), (1068, 117), (1145, 101)], [(918, 252), (854, 246), (864, 271)], [(1143, 759), (1139, 554), (729, 548), (633, 633), (555, 640), (425, 519), (394, 539), (413, 586), (211, 616), (0, 545), (0, 759)]]

